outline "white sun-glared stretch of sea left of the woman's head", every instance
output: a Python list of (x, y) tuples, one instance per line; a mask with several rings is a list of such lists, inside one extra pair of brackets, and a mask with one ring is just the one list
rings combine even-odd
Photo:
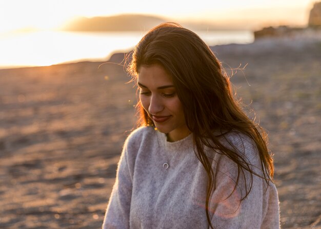
[(21, 33), (0, 39), (0, 66), (48, 66), (71, 60), (106, 60), (113, 51), (127, 52), (141, 39), (129, 32), (121, 35), (109, 33), (109, 42), (106, 42), (104, 33)]

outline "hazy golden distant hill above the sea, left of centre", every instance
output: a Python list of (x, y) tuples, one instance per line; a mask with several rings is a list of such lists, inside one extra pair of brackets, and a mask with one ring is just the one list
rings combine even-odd
[(62, 28), (65, 31), (147, 31), (166, 22), (148, 15), (123, 14), (109, 17), (78, 17)]

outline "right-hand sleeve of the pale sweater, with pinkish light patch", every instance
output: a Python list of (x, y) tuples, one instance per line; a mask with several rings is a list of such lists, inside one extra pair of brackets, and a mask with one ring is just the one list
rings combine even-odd
[[(256, 147), (246, 139), (234, 141), (233, 145), (243, 152), (250, 168), (262, 176)], [(238, 176), (236, 163), (225, 155), (219, 155), (216, 162), (214, 191), (209, 203), (214, 228), (279, 228), (275, 185), (271, 181), (267, 184), (256, 175), (251, 180), (246, 170), (240, 171)]]

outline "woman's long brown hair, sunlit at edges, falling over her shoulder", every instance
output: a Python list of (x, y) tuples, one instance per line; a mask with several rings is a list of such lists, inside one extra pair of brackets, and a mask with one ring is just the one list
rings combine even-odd
[[(250, 182), (250, 189), (246, 190), (242, 201), (251, 191), (253, 175), (262, 177), (267, 183), (273, 178), (273, 160), (267, 149), (266, 133), (243, 112), (239, 102), (233, 97), (228, 75), (223, 72), (210, 48), (194, 32), (176, 23), (163, 23), (151, 29), (135, 47), (128, 71), (137, 78), (141, 66), (154, 64), (164, 67), (173, 78), (177, 96), (183, 105), (187, 127), (193, 133), (195, 154), (209, 177), (206, 215), (213, 228), (208, 209), (211, 191), (215, 186), (215, 174), (204, 145), (226, 155), (237, 164), (235, 188), (239, 177), (245, 176), (244, 171), (250, 172), (250, 181), (246, 181)], [(140, 126), (153, 125), (153, 120), (140, 102), (137, 106), (141, 112)], [(220, 132), (220, 135), (215, 135), (214, 131)], [(250, 168), (233, 145), (232, 148), (226, 147), (219, 140), (231, 131), (243, 133), (253, 140), (259, 153), (263, 176)]]

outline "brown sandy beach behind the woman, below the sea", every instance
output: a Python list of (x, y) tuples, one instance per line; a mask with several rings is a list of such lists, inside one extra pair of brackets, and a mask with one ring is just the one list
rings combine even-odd
[[(212, 50), (269, 133), (282, 228), (321, 228), (321, 41)], [(101, 227), (136, 121), (130, 77), (103, 63), (0, 70), (0, 228)]]

